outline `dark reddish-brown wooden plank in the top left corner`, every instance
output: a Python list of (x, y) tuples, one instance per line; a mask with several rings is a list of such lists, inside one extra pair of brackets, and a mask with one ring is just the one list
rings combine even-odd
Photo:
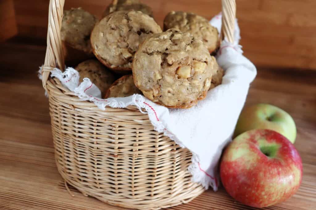
[(0, 2), (0, 42), (17, 34), (13, 0)]

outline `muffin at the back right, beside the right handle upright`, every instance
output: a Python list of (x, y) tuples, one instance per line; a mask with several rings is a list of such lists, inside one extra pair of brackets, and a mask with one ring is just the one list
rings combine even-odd
[(219, 47), (218, 31), (209, 21), (194, 13), (170, 12), (163, 21), (164, 30), (177, 28), (190, 32), (194, 38), (201, 40), (210, 53)]

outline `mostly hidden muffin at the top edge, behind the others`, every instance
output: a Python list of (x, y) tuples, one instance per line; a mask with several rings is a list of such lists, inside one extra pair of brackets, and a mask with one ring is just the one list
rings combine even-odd
[(147, 6), (146, 4), (140, 3), (138, 0), (119, 0), (117, 4), (113, 4), (113, 2), (105, 9), (102, 14), (102, 18), (106, 17), (108, 14), (115, 11), (141, 11), (144, 14), (148, 14), (150, 17), (153, 17), (153, 10)]

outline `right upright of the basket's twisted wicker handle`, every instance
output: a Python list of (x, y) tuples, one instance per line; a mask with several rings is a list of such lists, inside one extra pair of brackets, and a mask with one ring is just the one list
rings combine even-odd
[(222, 0), (222, 31), (221, 40), (225, 37), (230, 43), (234, 43), (234, 30), (236, 19), (236, 1)]

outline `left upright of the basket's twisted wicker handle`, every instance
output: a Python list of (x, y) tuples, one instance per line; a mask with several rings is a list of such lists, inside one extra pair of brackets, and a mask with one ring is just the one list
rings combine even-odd
[(64, 69), (64, 53), (60, 35), (63, 20), (65, 0), (50, 0), (48, 10), (47, 48), (44, 66), (42, 67), (42, 82), (46, 89), (50, 72), (56, 67)]

